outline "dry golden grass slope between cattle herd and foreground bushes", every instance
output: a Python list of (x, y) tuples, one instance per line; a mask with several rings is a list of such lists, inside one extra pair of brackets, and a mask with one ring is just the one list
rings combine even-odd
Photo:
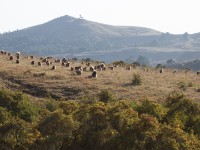
[[(89, 67), (81, 76), (71, 71), (71, 66), (85, 67), (78, 62), (64, 67), (52, 60), (56, 69), (51, 70), (52, 65), (37, 65), (41, 61), (39, 57), (27, 59), (21, 56), (19, 60), (20, 63), (16, 64), (15, 56), (9, 60), (9, 56), (0, 54), (0, 88), (19, 90), (35, 99), (95, 99), (97, 93), (106, 89), (112, 91), (118, 99), (140, 101), (148, 98), (162, 103), (171, 92), (179, 91), (195, 102), (200, 102), (200, 75), (193, 71), (185, 73), (185, 70), (176, 70), (173, 73), (172, 69), (164, 69), (163, 73), (159, 73), (159, 69), (148, 68), (147, 71), (141, 67), (128, 71), (119, 66), (114, 70), (97, 71), (97, 78), (89, 78), (92, 74)], [(32, 60), (36, 62), (34, 65), (31, 65)], [(131, 84), (134, 73), (140, 75), (142, 85)]]

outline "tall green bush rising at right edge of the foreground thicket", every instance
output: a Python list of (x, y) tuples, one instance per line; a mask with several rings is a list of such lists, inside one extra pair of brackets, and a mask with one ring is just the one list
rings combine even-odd
[(193, 103), (182, 94), (172, 93), (166, 100), (166, 107), (168, 108), (166, 122), (186, 132), (199, 134), (196, 126), (199, 124), (200, 105)]

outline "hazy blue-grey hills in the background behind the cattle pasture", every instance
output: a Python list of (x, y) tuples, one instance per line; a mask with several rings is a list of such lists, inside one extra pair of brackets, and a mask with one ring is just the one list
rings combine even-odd
[(200, 33), (174, 35), (153, 29), (111, 26), (62, 16), (47, 23), (0, 35), (0, 49), (57, 57), (134, 61), (200, 58)]

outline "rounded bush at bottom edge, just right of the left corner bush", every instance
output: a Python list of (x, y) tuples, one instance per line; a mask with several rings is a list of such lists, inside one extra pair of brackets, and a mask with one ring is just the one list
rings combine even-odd
[(44, 116), (38, 124), (38, 131), (43, 136), (39, 141), (39, 147), (35, 149), (70, 149), (74, 139), (73, 132), (77, 128), (71, 115), (61, 112), (52, 112)]

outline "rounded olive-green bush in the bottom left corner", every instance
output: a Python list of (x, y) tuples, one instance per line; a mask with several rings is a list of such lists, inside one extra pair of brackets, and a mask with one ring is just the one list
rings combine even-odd
[(38, 139), (39, 133), (22, 119), (11, 118), (0, 126), (1, 150), (25, 150)]

